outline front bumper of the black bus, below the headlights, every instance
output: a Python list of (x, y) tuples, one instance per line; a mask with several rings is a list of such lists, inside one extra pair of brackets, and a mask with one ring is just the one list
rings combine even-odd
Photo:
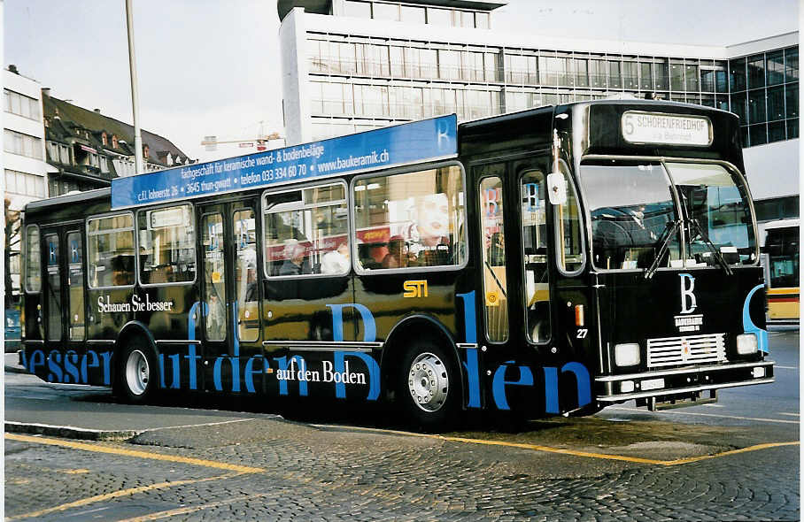
[(598, 377), (596, 399), (604, 404), (650, 397), (674, 399), (721, 388), (768, 384), (774, 381), (773, 365), (773, 361), (757, 361)]

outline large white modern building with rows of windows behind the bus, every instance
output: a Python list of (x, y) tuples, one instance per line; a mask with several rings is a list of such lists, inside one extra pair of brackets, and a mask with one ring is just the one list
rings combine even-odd
[(505, 4), (279, 0), (288, 143), (450, 112), (654, 97), (736, 112), (760, 218), (798, 215), (798, 33), (731, 46), (516, 35), (494, 28)]

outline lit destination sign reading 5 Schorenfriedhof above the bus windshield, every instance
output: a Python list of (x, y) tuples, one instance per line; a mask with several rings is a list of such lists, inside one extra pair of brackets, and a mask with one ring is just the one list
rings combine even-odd
[(703, 116), (626, 111), (621, 127), (622, 137), (630, 143), (693, 146), (712, 143), (712, 122)]

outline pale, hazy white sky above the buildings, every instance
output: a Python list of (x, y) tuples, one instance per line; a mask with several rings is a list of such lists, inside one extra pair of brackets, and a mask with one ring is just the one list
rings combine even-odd
[[(0, 0), (3, 2), (3, 0)], [(202, 161), (204, 136), (282, 129), (274, 0), (133, 0), (140, 125)], [(133, 122), (125, 0), (4, 0), (4, 67)], [(798, 0), (509, 0), (495, 31), (729, 45), (798, 30)], [(244, 150), (243, 153), (253, 150)]]

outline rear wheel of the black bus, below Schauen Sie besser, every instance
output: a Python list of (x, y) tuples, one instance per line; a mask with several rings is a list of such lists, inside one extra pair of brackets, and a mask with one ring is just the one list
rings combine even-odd
[(157, 357), (149, 342), (141, 338), (129, 341), (120, 351), (117, 365), (118, 395), (127, 403), (146, 402), (157, 385)]

